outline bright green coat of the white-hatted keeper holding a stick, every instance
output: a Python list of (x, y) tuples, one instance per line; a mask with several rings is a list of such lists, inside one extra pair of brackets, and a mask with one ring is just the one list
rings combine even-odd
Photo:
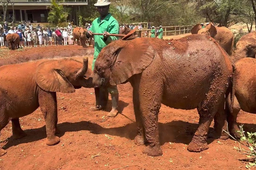
[[(105, 19), (101, 21), (100, 17), (92, 22), (92, 27), (89, 29), (94, 33), (119, 33), (119, 24), (117, 20), (109, 13)], [(94, 69), (94, 63), (100, 54), (102, 48), (106, 47), (112, 40), (117, 40), (117, 37), (109, 36), (106, 41), (103, 40), (103, 36), (94, 35), (94, 55), (92, 62), (92, 70)]]

